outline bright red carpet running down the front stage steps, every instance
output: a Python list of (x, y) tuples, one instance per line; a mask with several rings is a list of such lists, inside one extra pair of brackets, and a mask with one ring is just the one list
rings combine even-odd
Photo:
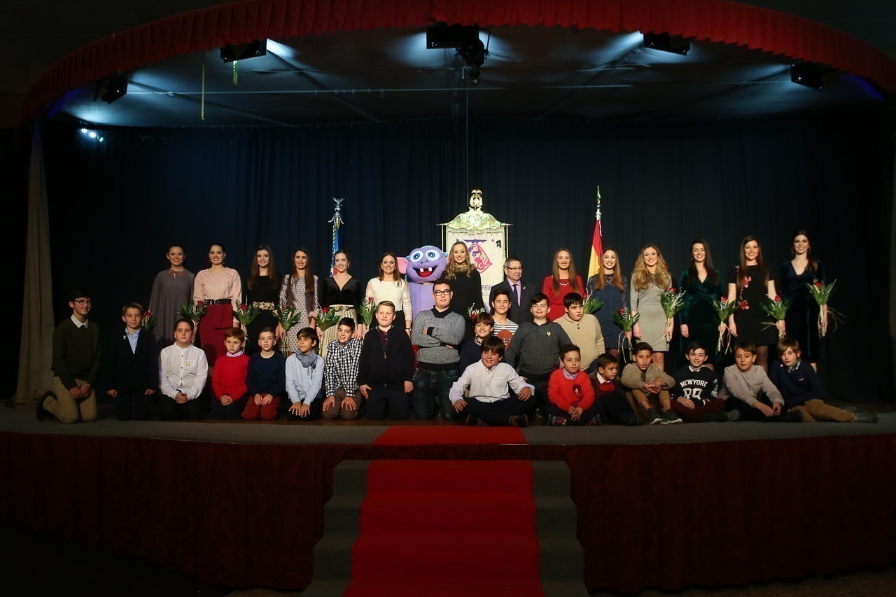
[(370, 465), (346, 595), (534, 597), (539, 566), (528, 461)]

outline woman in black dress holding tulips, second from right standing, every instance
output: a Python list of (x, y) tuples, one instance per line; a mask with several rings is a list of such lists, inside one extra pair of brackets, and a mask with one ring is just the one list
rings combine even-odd
[[(740, 264), (728, 273), (728, 300), (737, 298), (737, 311), (728, 317), (728, 330), (738, 339), (756, 345), (756, 364), (769, 370), (769, 346), (778, 342), (775, 321), (762, 310), (762, 302), (774, 300), (775, 281), (762, 264), (762, 249), (755, 237), (745, 237), (740, 243)], [(784, 323), (778, 328), (783, 331)]]

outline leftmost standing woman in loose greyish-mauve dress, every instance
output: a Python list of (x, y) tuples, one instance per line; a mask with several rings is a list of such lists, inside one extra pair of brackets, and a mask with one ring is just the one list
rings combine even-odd
[(174, 343), (171, 330), (181, 317), (180, 306), (189, 304), (193, 299), (193, 281), (196, 277), (184, 267), (184, 247), (171, 245), (165, 258), (170, 267), (159, 272), (152, 282), (149, 307), (156, 320), (152, 334), (156, 337), (159, 350)]

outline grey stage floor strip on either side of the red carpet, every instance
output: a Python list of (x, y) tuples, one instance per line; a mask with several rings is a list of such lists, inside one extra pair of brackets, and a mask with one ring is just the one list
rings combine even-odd
[[(527, 446), (582, 446), (625, 444), (689, 444), (783, 439), (797, 437), (859, 436), (896, 433), (896, 404), (855, 404), (860, 411), (879, 413), (880, 422), (869, 423), (684, 423), (621, 427), (603, 425), (588, 428), (553, 428), (535, 425), (523, 429)], [(292, 423), (244, 420), (201, 421), (119, 421), (112, 405), (100, 403), (99, 419), (93, 423), (63, 425), (56, 420), (39, 421), (34, 409), (15, 407), (10, 402), (0, 408), (0, 432), (71, 435), (80, 437), (150, 437), (198, 442), (261, 445), (341, 445), (388, 446), (383, 432), (390, 427), (458, 426), (444, 420), (408, 421), (326, 421)], [(380, 441), (377, 441), (380, 439)], [(446, 443), (452, 443), (451, 441)], [(464, 443), (470, 443), (469, 440)], [(473, 442), (476, 443), (476, 442)], [(493, 443), (484, 437), (482, 443)]]

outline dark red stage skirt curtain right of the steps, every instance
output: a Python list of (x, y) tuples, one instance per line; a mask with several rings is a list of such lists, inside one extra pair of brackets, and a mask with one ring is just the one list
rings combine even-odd
[(889, 566), (893, 454), (894, 435), (573, 447), (585, 584), (635, 593)]

